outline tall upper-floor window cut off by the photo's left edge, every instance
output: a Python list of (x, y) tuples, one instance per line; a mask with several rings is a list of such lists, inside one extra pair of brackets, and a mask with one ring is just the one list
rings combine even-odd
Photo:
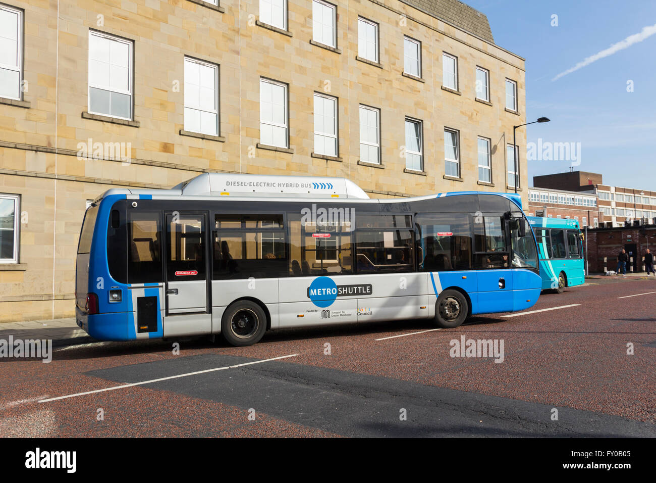
[(0, 5), (0, 97), (20, 101), (23, 12)]

